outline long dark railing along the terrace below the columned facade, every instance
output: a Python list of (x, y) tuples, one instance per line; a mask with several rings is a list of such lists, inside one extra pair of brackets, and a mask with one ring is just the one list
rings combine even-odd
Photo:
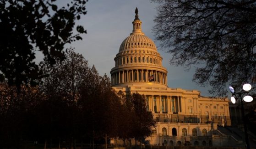
[(199, 115), (180, 115), (180, 114), (153, 114), (154, 120), (161, 123), (217, 123), (219, 126), (230, 126), (231, 120), (225, 116), (199, 116)]

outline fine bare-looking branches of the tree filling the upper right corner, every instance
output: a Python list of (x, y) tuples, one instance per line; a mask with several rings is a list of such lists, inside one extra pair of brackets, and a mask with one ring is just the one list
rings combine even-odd
[(196, 64), (193, 80), (218, 95), (227, 92), (227, 83), (255, 84), (255, 0), (153, 1), (159, 3), (154, 32), (173, 54), (171, 64)]

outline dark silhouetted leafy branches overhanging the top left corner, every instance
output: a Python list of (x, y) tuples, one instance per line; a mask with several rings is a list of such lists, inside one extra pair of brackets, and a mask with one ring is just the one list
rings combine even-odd
[(64, 45), (82, 40), (86, 33), (75, 21), (86, 14), (87, 0), (72, 0), (58, 8), (56, 0), (0, 1), (0, 81), (10, 85), (36, 84), (44, 77), (34, 62), (35, 52), (41, 51), (50, 64), (55, 58), (64, 59)]

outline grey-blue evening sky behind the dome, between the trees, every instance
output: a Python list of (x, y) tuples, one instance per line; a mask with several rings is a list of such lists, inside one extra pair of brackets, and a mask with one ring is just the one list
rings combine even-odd
[[(66, 5), (67, 2), (68, 0), (60, 0), (58, 5)], [(155, 42), (158, 52), (163, 57), (162, 64), (168, 70), (168, 86), (198, 90), (202, 96), (213, 96), (208, 93), (209, 86), (200, 87), (192, 82), (194, 67), (185, 71), (184, 67), (169, 65), (171, 54), (159, 47), (159, 41), (155, 40), (152, 31), (157, 5), (150, 0), (89, 0), (86, 5), (87, 15), (76, 21), (76, 25), (84, 26), (87, 34), (82, 35), (82, 41), (72, 42), (65, 47), (74, 47), (91, 66), (95, 65), (100, 75), (106, 73), (110, 77), (110, 70), (114, 67), (114, 57), (119, 51), (120, 44), (132, 32), (132, 21), (137, 7), (139, 19), (142, 21), (142, 31)]]

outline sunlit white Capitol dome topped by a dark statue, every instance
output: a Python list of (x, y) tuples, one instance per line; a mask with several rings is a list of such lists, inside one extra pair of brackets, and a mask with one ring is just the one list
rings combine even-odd
[(121, 43), (111, 69), (112, 87), (146, 85), (167, 87), (167, 70), (154, 42), (142, 32), (142, 21), (135, 11), (133, 31)]

